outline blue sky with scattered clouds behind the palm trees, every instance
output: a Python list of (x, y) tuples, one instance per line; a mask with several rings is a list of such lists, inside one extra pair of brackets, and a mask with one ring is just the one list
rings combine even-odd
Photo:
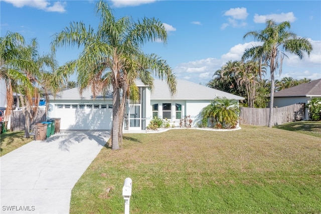
[[(116, 18), (131, 16), (159, 19), (167, 28), (168, 42), (147, 43), (142, 50), (167, 60), (179, 79), (206, 84), (229, 60), (240, 60), (255, 43), (246, 32), (262, 30), (265, 21), (289, 21), (290, 31), (308, 38), (313, 51), (303, 60), (288, 55), (277, 79), (321, 78), (321, 1), (107, 1)], [(21, 33), (27, 42), (37, 38), (40, 53), (50, 51), (55, 33), (72, 21), (96, 28), (96, 1), (0, 0), (1, 37)], [(76, 59), (80, 50), (59, 48), (62, 65)], [(265, 78), (269, 78), (267, 74)], [(76, 80), (72, 76), (70, 80)]]

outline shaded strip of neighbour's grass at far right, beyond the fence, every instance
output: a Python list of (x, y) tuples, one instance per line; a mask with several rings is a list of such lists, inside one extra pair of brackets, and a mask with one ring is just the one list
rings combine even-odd
[(287, 123), (279, 126), (274, 126), (273, 128), (283, 129), (283, 130), (292, 131), (292, 132), (298, 132), (298, 133), (321, 138), (321, 122), (300, 121), (300, 122), (292, 122), (292, 123)]

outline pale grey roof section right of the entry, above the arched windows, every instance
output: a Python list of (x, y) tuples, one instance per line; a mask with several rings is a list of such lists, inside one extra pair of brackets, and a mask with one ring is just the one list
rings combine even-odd
[(171, 97), (170, 90), (166, 81), (154, 80), (154, 89), (151, 93), (151, 99), (187, 99), (187, 100), (213, 100), (216, 97), (226, 97), (228, 99), (244, 99), (231, 93), (216, 90), (204, 85), (200, 85), (191, 81), (178, 79), (177, 93)]

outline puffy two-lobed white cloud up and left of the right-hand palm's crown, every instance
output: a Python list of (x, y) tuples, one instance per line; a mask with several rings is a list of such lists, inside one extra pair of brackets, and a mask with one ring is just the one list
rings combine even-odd
[(246, 12), (246, 8), (231, 8), (230, 10), (224, 13), (224, 16), (229, 16), (228, 23), (223, 23), (221, 29), (224, 30), (228, 26), (232, 26), (233, 28), (245, 27), (247, 25), (246, 22), (240, 21), (245, 20), (248, 16)]

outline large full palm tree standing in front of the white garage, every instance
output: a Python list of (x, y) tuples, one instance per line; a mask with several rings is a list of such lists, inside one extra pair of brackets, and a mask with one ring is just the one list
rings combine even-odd
[[(155, 54), (144, 54), (141, 46), (148, 41), (167, 41), (164, 25), (152, 18), (143, 18), (133, 22), (129, 17), (118, 20), (113, 16), (109, 6), (100, 1), (97, 3), (97, 14), (101, 21), (97, 32), (82, 22), (72, 22), (70, 27), (55, 34), (52, 49), (63, 45), (84, 47), (78, 59), (66, 63), (60, 68), (61, 75), (77, 72), (80, 93), (91, 87), (93, 96), (113, 88), (112, 110), (112, 149), (119, 149), (121, 143), (122, 122), (126, 97), (137, 87), (134, 80), (140, 79), (152, 87), (151, 74), (166, 78), (174, 94), (176, 77), (172, 69)], [(120, 92), (123, 96), (120, 98)]]

